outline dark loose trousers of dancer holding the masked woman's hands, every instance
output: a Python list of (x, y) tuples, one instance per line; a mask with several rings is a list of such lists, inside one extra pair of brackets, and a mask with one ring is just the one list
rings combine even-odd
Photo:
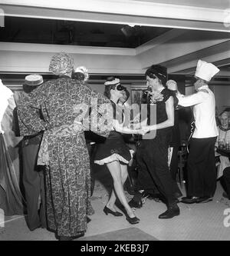
[[(166, 198), (167, 204), (176, 201), (177, 185), (172, 180), (168, 166), (169, 136), (158, 134), (156, 138), (140, 141), (136, 154), (145, 168), (138, 176), (139, 184), (154, 184), (158, 191)], [(142, 178), (142, 180), (140, 180)], [(153, 187), (154, 188), (154, 187)]]

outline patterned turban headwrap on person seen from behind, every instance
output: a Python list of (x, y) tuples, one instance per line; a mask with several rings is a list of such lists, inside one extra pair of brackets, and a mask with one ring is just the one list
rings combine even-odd
[(49, 71), (54, 73), (54, 75), (64, 75), (66, 73), (71, 73), (73, 69), (74, 59), (66, 52), (60, 52), (51, 58)]

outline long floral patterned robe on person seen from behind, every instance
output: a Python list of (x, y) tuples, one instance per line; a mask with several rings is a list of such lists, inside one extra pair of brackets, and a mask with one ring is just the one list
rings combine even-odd
[[(84, 126), (81, 125), (92, 98), (94, 102), (97, 101), (98, 121), (104, 113), (100, 106), (105, 104), (106, 108), (111, 108), (110, 101), (87, 86), (78, 84), (76, 80), (63, 76), (40, 85), (30, 98), (18, 105), (21, 135), (44, 131), (47, 148), (44, 146), (43, 149), (48, 153), (48, 228), (58, 236), (77, 236), (85, 232), (87, 214), (93, 213), (89, 201), (90, 159)], [(38, 111), (43, 119), (39, 118)], [(107, 137), (110, 125), (96, 132)]]

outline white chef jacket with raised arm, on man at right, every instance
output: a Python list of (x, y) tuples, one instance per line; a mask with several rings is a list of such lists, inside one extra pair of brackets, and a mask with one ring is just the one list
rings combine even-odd
[[(202, 91), (203, 90), (203, 91)], [(208, 85), (198, 88), (193, 95), (177, 95), (178, 105), (193, 107), (195, 130), (192, 138), (211, 138), (218, 136), (215, 121), (215, 95)]]

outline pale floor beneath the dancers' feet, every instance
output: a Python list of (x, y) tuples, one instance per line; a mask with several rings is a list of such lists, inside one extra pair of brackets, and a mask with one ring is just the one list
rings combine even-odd
[[(103, 208), (112, 184), (111, 177), (105, 168), (97, 168), (94, 175), (96, 182), (92, 204), (95, 214), (90, 216), (84, 238), (126, 228), (138, 228), (159, 241), (230, 240), (230, 200), (222, 197), (223, 189), (219, 182), (213, 201), (205, 204), (179, 203), (181, 214), (168, 220), (158, 218), (158, 215), (166, 210), (165, 204), (147, 198), (143, 208), (136, 209), (140, 223), (131, 225), (124, 216), (113, 217), (111, 214), (104, 214)], [(185, 194), (184, 190), (182, 192)], [(133, 197), (127, 192), (126, 195), (129, 199)], [(24, 216), (12, 216), (5, 218), (5, 227), (0, 227), (0, 240), (54, 241), (56, 238), (53, 233), (43, 228), (29, 231)]]

